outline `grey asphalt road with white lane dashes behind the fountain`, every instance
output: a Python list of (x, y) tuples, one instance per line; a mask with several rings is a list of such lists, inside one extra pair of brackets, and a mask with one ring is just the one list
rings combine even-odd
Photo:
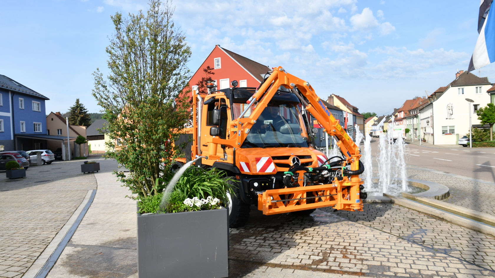
[[(378, 139), (371, 141), (371, 148), (376, 156)], [(495, 185), (495, 148), (407, 144), (405, 153), (409, 165), (490, 181)]]

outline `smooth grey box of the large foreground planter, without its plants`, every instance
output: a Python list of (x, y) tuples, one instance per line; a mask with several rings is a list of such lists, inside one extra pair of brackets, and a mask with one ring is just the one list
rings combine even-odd
[(138, 214), (139, 278), (228, 277), (228, 211)]

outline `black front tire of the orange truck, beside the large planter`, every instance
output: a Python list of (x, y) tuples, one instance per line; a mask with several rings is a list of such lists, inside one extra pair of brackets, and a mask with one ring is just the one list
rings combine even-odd
[(230, 185), (235, 185), (236, 189), (235, 196), (227, 192), (227, 209), (229, 210), (229, 227), (239, 228), (246, 225), (247, 219), (249, 218), (250, 205), (246, 204), (241, 200), (241, 195), (239, 193), (240, 183), (237, 181), (228, 181)]

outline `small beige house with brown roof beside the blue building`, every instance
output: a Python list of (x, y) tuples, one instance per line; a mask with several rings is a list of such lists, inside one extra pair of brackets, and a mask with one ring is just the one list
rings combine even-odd
[[(62, 148), (62, 158), (67, 160), (67, 122), (62, 117), (60, 112), (50, 112), (46, 118), (47, 134), (49, 136), (57, 136), (61, 140), (49, 140), (47, 142), (47, 148), (54, 151), (57, 148)], [(84, 143), (81, 147), (75, 143), (78, 136), (86, 138), (85, 126), (69, 125), (69, 145), (70, 145), (70, 157), (75, 156), (88, 156), (88, 143)]]

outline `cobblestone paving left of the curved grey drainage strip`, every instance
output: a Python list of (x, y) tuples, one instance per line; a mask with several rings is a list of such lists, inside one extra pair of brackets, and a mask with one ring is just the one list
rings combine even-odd
[(29, 167), (26, 178), (0, 172), (0, 277), (22, 277), (81, 204), (93, 175), (77, 161)]

